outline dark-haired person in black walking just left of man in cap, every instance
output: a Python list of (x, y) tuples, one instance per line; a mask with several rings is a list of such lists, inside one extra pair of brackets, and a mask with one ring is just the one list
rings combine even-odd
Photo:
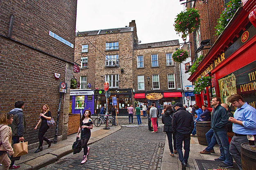
[[(173, 129), (172, 129), (173, 113), (174, 112), (172, 110), (172, 106), (170, 106), (170, 105), (166, 106), (165, 105), (165, 112), (163, 113), (163, 116), (162, 116), (162, 123), (164, 124), (163, 131), (166, 132), (166, 135), (168, 137), (170, 155), (172, 157), (174, 157), (174, 153), (177, 153), (176, 138), (175, 138), (175, 135), (174, 135), (174, 132), (173, 132)], [(173, 139), (173, 147), (172, 147), (172, 139)]]

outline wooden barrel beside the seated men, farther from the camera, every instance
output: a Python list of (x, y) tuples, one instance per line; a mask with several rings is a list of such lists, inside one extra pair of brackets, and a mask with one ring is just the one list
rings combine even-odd
[(208, 146), (205, 134), (211, 129), (211, 121), (197, 121), (197, 140), (200, 145)]

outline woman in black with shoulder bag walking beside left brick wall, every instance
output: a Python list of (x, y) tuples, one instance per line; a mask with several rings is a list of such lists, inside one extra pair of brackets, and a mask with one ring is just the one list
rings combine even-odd
[(46, 137), (44, 137), (45, 132), (47, 132), (47, 130), (50, 128), (47, 124), (48, 120), (52, 119), (52, 114), (50, 112), (50, 108), (47, 104), (44, 104), (41, 107), (41, 112), (40, 112), (40, 119), (36, 125), (36, 127), (34, 128), (35, 130), (37, 129), (37, 127), (39, 126), (39, 124), (41, 124), (40, 129), (39, 129), (39, 133), (38, 133), (38, 138), (39, 138), (39, 147), (38, 149), (35, 151), (35, 153), (37, 152), (41, 152), (43, 150), (43, 141), (46, 141), (48, 144), (48, 148), (52, 145), (53, 141), (47, 139)]

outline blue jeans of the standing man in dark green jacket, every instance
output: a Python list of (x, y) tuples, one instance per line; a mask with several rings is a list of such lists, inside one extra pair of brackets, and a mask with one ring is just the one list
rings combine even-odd
[(227, 135), (227, 130), (215, 131), (215, 137), (217, 139), (218, 145), (220, 145), (220, 160), (224, 161), (227, 165), (233, 165), (233, 158), (229, 153), (229, 139)]

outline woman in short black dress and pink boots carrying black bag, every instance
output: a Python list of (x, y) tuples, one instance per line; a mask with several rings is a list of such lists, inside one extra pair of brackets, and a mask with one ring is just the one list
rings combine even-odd
[(87, 156), (90, 153), (90, 147), (87, 146), (88, 141), (91, 137), (91, 129), (93, 128), (93, 120), (91, 119), (91, 111), (85, 110), (84, 114), (80, 120), (80, 126), (78, 128), (77, 137), (79, 137), (79, 133), (81, 131), (81, 144), (84, 148), (84, 157), (81, 164), (86, 163)]

